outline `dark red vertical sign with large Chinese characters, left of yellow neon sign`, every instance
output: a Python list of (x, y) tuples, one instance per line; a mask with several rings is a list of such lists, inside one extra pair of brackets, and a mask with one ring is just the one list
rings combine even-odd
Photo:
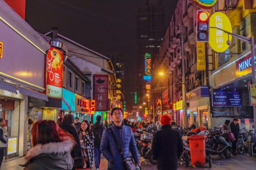
[(108, 109), (108, 75), (94, 76), (95, 111)]

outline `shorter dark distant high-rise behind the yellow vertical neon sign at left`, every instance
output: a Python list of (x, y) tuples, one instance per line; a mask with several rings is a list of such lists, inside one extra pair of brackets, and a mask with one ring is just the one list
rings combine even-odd
[(121, 79), (121, 90), (124, 90), (124, 63), (121, 59), (119, 52), (114, 53), (106, 53), (106, 57), (108, 57), (113, 63), (114, 70), (116, 72), (116, 79)]

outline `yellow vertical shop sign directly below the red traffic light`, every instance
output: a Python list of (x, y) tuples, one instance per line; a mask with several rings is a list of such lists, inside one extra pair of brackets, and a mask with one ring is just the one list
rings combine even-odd
[(206, 70), (205, 61), (205, 42), (196, 42), (196, 68), (197, 70)]

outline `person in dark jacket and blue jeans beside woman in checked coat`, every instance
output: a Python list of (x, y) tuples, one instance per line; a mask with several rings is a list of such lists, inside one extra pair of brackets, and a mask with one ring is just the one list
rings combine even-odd
[(100, 158), (101, 158), (101, 151), (100, 151), (100, 141), (102, 138), (102, 134), (106, 127), (100, 123), (101, 116), (96, 116), (96, 123), (92, 125), (92, 133), (94, 135), (94, 163), (95, 169), (100, 170)]

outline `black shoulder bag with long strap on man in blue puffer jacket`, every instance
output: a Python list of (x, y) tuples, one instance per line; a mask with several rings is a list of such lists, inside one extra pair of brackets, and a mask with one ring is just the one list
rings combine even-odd
[[(119, 146), (118, 146), (118, 141), (117, 141), (117, 139), (116, 139), (116, 135), (114, 134), (114, 132), (113, 132), (113, 130), (112, 130), (111, 127), (109, 127), (108, 129), (109, 129), (109, 131), (110, 131), (112, 137), (114, 138), (114, 141), (115, 141), (116, 147), (118, 148), (118, 151), (120, 152), (120, 154), (121, 154), (121, 156), (122, 156), (122, 160), (124, 161), (124, 165), (125, 165), (126, 170), (142, 170), (141, 167), (140, 167), (140, 169), (138, 169), (138, 168), (135, 166), (135, 164), (134, 164), (132, 158), (124, 158), (124, 154), (123, 154), (122, 150), (121, 150), (121, 149), (119, 148)], [(120, 135), (121, 135), (121, 134), (120, 134)]]

